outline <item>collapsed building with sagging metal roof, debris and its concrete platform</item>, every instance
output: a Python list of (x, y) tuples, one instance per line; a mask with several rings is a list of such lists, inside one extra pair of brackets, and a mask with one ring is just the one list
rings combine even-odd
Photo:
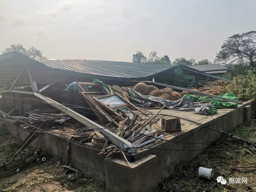
[[(188, 89), (202, 76), (227, 81), (185, 66), (33, 60), (10, 52), (0, 55), (0, 116), (19, 134), (20, 150), (46, 149), (105, 182), (108, 191), (154, 191), (177, 164), (206, 148), (205, 141), (255, 113), (254, 100)], [(186, 94), (179, 100), (143, 95), (132, 88), (138, 82)], [(2, 174), (15, 170), (8, 166)]]

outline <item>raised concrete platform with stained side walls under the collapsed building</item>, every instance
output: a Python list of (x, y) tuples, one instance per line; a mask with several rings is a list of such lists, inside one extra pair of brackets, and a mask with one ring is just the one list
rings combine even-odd
[[(156, 113), (158, 110), (150, 111)], [(218, 114), (213, 116), (202, 116), (192, 112), (174, 110), (163, 110), (161, 113), (187, 118), (210, 127), (228, 131), (237, 124), (250, 120), (250, 117), (255, 114), (255, 100), (246, 101), (244, 104), (238, 105), (236, 109), (219, 109)], [(9, 118), (5, 122), (7, 128), (21, 129), (16, 124), (16, 120)], [(161, 127), (161, 121), (158, 122), (158, 125)], [(157, 127), (157, 125), (155, 126)], [(12, 130), (10, 132), (12, 135), (19, 133), (19, 131)], [(29, 132), (22, 132), (17, 136), (17, 139), (23, 141), (28, 134)], [(182, 142), (202, 142), (216, 140), (219, 137), (217, 132), (184, 120), (181, 120), (181, 132), (165, 134), (165, 139)], [(77, 143), (80, 144), (80, 142)], [(108, 191), (144, 192), (154, 191), (158, 182), (168, 177), (177, 164), (189, 161), (199, 153), (198, 151), (159, 150), (154, 149), (154, 147), (204, 149), (208, 144), (181, 144), (167, 141), (154, 143), (154, 145), (149, 144), (152, 147), (151, 149), (139, 150), (136, 155), (127, 156), (132, 161), (130, 163), (131, 167), (124, 161), (124, 158), (118, 156), (106, 158), (106, 156), (98, 155), (97, 151), (77, 147), (50, 134), (40, 134), (31, 143), (31, 146), (46, 148), (49, 154), (63, 163), (70, 164), (88, 177), (106, 182)], [(91, 143), (85, 143), (84, 145), (92, 147)]]

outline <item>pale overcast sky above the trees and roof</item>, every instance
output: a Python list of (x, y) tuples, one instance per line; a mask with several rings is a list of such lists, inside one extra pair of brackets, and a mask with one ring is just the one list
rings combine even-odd
[(0, 0), (0, 52), (35, 46), (49, 59), (131, 61), (141, 51), (214, 60), (223, 41), (256, 30), (256, 0)]

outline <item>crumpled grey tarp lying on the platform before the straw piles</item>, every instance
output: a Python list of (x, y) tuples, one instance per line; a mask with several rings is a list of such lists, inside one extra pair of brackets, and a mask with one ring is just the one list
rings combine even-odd
[(210, 103), (193, 103), (188, 97), (182, 97), (179, 100), (170, 101), (159, 97), (142, 95), (139, 92), (134, 91), (132, 88), (127, 89), (130, 96), (138, 103), (138, 106), (141, 108), (150, 108), (165, 105), (168, 109), (179, 111), (193, 111), (196, 114), (200, 115), (210, 115), (210, 108), (215, 108)]

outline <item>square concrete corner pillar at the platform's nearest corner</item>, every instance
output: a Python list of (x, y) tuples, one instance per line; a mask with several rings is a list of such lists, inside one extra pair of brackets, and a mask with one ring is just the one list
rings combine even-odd
[(105, 158), (106, 189), (109, 192), (153, 192), (158, 186), (157, 158), (148, 155), (135, 162)]

